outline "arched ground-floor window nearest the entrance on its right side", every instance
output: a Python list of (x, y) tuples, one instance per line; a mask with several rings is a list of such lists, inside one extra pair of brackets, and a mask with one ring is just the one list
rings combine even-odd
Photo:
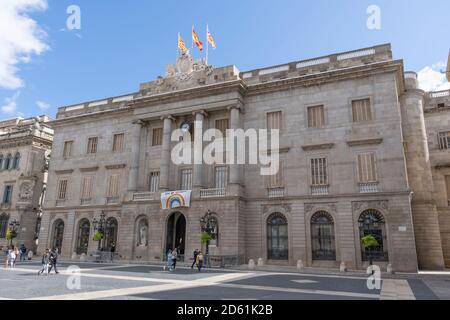
[(281, 213), (267, 219), (267, 257), (273, 260), (288, 260), (288, 223)]

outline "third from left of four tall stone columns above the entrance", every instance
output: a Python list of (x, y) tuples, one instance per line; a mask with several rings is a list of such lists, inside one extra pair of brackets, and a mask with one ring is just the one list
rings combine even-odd
[[(204, 111), (195, 112), (195, 128), (194, 128), (194, 179), (193, 187), (201, 189), (204, 187), (204, 164), (203, 164), (203, 131), (206, 113)], [(200, 163), (201, 162), (201, 163)]]

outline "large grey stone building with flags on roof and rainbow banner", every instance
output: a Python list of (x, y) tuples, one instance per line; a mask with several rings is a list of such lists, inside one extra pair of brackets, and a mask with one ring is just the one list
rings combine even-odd
[[(450, 266), (450, 97), (426, 93), (380, 45), (240, 72), (188, 55), (125, 96), (66, 106), (56, 120), (39, 249), (100, 246), (127, 261), (199, 248), (235, 263), (398, 271)], [(279, 129), (280, 170), (175, 165), (174, 129)], [(193, 132), (195, 136), (195, 130)], [(190, 192), (163, 209), (161, 193)], [(93, 240), (101, 214), (104, 238)], [(362, 247), (373, 235), (378, 246)], [(233, 260), (233, 259), (234, 260)]]

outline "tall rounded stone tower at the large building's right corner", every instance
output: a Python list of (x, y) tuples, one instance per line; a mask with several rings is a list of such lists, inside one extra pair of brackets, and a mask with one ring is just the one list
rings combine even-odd
[(438, 212), (433, 201), (433, 179), (423, 114), (424, 91), (409, 77), (401, 97), (402, 129), (406, 142), (408, 182), (412, 189), (411, 210), (420, 269), (443, 269)]

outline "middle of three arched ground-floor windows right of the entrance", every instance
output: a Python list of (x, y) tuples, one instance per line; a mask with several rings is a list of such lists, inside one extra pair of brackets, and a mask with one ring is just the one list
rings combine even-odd
[(326, 211), (311, 217), (311, 247), (313, 260), (336, 260), (334, 221)]

